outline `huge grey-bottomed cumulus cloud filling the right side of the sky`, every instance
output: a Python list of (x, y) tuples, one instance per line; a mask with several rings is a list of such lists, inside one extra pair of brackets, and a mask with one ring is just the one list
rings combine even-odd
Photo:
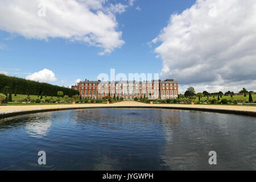
[(199, 90), (256, 86), (255, 29), (254, 0), (197, 0), (172, 14), (152, 40), (160, 42), (155, 52), (163, 60), (161, 76)]

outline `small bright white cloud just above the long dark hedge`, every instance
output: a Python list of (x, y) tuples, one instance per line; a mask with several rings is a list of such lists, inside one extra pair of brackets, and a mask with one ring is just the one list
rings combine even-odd
[(55, 74), (49, 69), (43, 69), (42, 71), (32, 73), (31, 75), (28, 75), (26, 79), (39, 82), (53, 82), (57, 80)]

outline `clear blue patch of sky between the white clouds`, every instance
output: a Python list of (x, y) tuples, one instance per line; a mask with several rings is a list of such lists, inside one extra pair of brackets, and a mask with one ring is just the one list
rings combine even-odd
[[(116, 2), (116, 1), (114, 1)], [(113, 2), (113, 3), (114, 3)], [(99, 73), (109, 73), (110, 68), (122, 73), (159, 73), (162, 61), (156, 59), (151, 42), (167, 25), (172, 13), (179, 13), (195, 1), (135, 1), (122, 14), (117, 14), (118, 31), (122, 31), (125, 44), (112, 53), (99, 56), (100, 48), (85, 43), (73, 43), (66, 39), (27, 39), (6, 31), (0, 31), (0, 42), (5, 48), (0, 51), (0, 69), (9, 75), (26, 77), (44, 68), (55, 73), (57, 81), (67, 80), (71, 85), (77, 78), (94, 80)], [(135, 9), (140, 7), (141, 11)], [(18, 68), (20, 71), (10, 70)]]

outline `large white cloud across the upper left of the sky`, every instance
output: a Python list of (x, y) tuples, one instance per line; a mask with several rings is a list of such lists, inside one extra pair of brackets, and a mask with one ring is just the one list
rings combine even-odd
[(85, 42), (102, 48), (103, 53), (111, 53), (124, 44), (114, 13), (123, 13), (126, 6), (106, 2), (2, 0), (0, 30), (28, 39), (63, 38)]

